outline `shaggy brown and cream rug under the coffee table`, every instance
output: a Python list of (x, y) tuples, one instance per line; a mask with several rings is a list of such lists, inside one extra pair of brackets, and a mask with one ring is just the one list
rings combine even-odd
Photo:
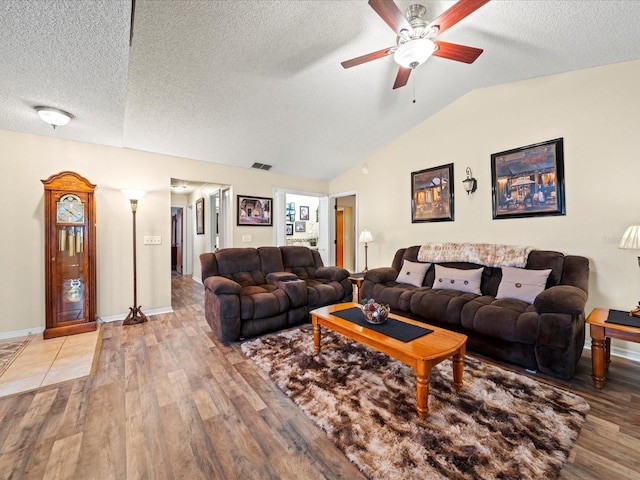
[(372, 479), (557, 478), (589, 411), (581, 397), (465, 357), (431, 372), (429, 415), (416, 414), (410, 367), (311, 326), (264, 336), (242, 351)]

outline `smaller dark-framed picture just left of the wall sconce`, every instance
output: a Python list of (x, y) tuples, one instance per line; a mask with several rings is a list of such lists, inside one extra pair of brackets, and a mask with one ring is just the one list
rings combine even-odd
[(453, 163), (411, 172), (411, 223), (453, 218)]

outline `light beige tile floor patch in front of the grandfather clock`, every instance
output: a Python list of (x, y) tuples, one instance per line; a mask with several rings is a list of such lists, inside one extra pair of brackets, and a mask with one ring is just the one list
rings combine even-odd
[(0, 397), (95, 373), (102, 325), (95, 332), (44, 340), (33, 335), (0, 376)]

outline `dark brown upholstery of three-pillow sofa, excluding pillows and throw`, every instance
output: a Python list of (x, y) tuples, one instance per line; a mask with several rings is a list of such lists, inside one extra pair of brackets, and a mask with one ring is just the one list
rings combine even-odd
[[(391, 267), (369, 270), (362, 297), (388, 303), (394, 313), (468, 336), (469, 350), (559, 378), (573, 376), (585, 341), (589, 261), (585, 257), (533, 250), (525, 269), (550, 269), (542, 293), (532, 303), (496, 299), (502, 269), (484, 266), (480, 293), (433, 288), (432, 264), (420, 286), (399, 283), (405, 261), (418, 262), (419, 246), (401, 248)], [(424, 262), (423, 262), (424, 263)], [(469, 262), (442, 266), (477, 269)]]

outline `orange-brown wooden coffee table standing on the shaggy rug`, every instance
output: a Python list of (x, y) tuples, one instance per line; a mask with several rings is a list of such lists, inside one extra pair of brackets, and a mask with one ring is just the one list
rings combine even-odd
[(316, 354), (320, 353), (320, 326), (323, 326), (406, 363), (416, 372), (416, 410), (420, 418), (426, 418), (429, 413), (429, 375), (435, 365), (453, 357), (453, 385), (456, 390), (462, 388), (464, 354), (467, 345), (465, 335), (391, 314), (390, 318), (433, 330), (433, 333), (403, 342), (333, 315), (334, 312), (353, 307), (358, 305), (340, 303), (311, 311)]

